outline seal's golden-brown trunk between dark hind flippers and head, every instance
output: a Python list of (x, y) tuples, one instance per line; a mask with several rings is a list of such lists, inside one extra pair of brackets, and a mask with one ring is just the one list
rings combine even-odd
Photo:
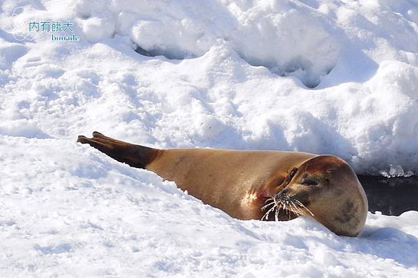
[[(146, 165), (160, 177), (234, 218), (261, 219), (294, 163), (312, 154), (229, 149), (167, 149)], [(284, 213), (284, 211), (283, 211)], [(285, 215), (288, 216), (288, 215)]]

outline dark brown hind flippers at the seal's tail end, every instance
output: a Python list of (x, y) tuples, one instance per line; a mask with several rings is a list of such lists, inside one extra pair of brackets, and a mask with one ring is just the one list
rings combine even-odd
[(93, 132), (93, 138), (79, 136), (77, 142), (91, 145), (100, 152), (107, 154), (116, 161), (127, 163), (132, 167), (145, 168), (157, 156), (159, 149), (134, 145), (104, 136), (98, 131)]

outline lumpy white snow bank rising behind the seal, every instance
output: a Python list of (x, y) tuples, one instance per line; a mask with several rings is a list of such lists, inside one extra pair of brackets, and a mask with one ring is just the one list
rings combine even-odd
[[(1, 134), (99, 130), (159, 147), (299, 150), (341, 156), (359, 173), (418, 172), (413, 1), (1, 5)], [(79, 41), (28, 33), (33, 20), (70, 21)]]

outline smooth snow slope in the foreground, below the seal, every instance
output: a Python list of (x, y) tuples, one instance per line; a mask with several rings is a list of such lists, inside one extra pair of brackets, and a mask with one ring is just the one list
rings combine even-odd
[(1, 277), (414, 277), (418, 213), (358, 238), (240, 221), (68, 140), (0, 136)]

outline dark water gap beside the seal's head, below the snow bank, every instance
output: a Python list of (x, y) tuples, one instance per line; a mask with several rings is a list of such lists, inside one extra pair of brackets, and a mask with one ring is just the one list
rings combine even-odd
[(359, 175), (369, 199), (369, 211), (385, 215), (400, 215), (418, 211), (418, 176), (381, 177)]

